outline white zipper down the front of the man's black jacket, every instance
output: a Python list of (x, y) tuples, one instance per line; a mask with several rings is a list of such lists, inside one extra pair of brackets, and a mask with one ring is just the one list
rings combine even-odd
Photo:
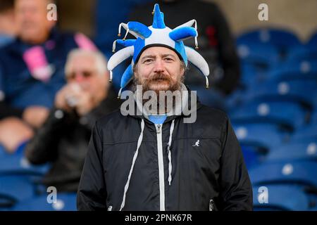
[(165, 211), (165, 184), (164, 184), (164, 162), (163, 162), (163, 144), (162, 127), (163, 124), (155, 124), (157, 138), (157, 157), (159, 161), (159, 189), (160, 189), (160, 211)]

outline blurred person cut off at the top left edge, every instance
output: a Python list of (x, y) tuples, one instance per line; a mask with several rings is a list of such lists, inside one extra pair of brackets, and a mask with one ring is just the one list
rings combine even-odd
[(0, 1), (0, 48), (13, 41), (17, 33), (13, 8), (14, 0)]

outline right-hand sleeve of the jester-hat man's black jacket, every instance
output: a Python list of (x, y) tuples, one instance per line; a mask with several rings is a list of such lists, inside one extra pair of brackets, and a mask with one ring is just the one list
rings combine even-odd
[(252, 187), (242, 150), (227, 119), (220, 159), (219, 210), (253, 210)]

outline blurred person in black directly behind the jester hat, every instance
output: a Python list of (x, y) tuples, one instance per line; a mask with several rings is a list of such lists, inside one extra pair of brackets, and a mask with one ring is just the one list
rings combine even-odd
[[(235, 49), (235, 40), (225, 15), (215, 3), (199, 0), (159, 0), (162, 11), (173, 16), (168, 21), (172, 29), (192, 19), (197, 20), (199, 53), (206, 58), (211, 70), (211, 89), (197, 89), (204, 77), (194, 67), (189, 68), (192, 76), (186, 77), (185, 84), (197, 89), (201, 101), (209, 106), (225, 109), (223, 98), (232, 93), (240, 79), (240, 62)], [(139, 4), (132, 9), (128, 21), (140, 21), (150, 25), (152, 18), (149, 11), (153, 10), (153, 2)], [(187, 46), (195, 48), (193, 42), (184, 41)], [(209, 95), (209, 98), (206, 98)]]

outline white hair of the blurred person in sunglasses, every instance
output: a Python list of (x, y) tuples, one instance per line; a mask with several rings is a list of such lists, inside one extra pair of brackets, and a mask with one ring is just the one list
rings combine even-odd
[(70, 74), (70, 63), (72, 62), (73, 58), (77, 58), (80, 56), (89, 56), (94, 58), (95, 67), (97, 68), (97, 72), (99, 75), (105, 75), (107, 70), (107, 60), (100, 51), (92, 51), (87, 49), (74, 49), (68, 53), (67, 61), (65, 65), (65, 74)]

